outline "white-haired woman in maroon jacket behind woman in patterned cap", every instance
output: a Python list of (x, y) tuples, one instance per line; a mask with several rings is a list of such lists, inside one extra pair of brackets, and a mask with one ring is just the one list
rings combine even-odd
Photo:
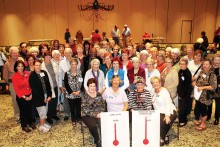
[(128, 80), (130, 84), (129, 90), (135, 89), (135, 85), (134, 85), (135, 76), (143, 77), (143, 79), (145, 80), (145, 70), (140, 67), (140, 59), (138, 57), (133, 57), (132, 64), (133, 64), (133, 67), (128, 69), (128, 72), (127, 72)]

